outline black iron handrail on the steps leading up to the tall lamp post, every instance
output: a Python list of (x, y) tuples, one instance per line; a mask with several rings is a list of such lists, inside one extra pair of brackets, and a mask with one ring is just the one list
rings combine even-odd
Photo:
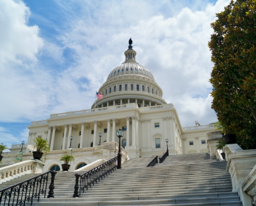
[(117, 157), (110, 159), (107, 162), (100, 164), (99, 166), (86, 171), (82, 175), (76, 174), (76, 184), (74, 185), (74, 194), (73, 197), (79, 197), (81, 191), (84, 193), (85, 190), (88, 190), (88, 187), (94, 186), (97, 184), (100, 179), (102, 180), (105, 177), (108, 177), (112, 171), (117, 167)]

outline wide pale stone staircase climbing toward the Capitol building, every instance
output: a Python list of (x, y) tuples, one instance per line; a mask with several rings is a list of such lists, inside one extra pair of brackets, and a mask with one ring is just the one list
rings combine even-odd
[(145, 167), (153, 158), (147, 162), (142, 161), (145, 158), (129, 164), (128, 161), (79, 198), (72, 198), (74, 173), (58, 173), (55, 198), (40, 199), (33, 205), (242, 206), (238, 194), (232, 192), (226, 162), (209, 160), (206, 154), (196, 158), (197, 155), (169, 156), (154, 167)]

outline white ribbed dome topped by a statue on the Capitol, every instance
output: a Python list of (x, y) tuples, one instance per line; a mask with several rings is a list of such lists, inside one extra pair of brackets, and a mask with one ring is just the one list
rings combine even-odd
[(151, 72), (136, 61), (137, 53), (132, 49), (132, 40), (125, 51), (125, 62), (116, 66), (106, 82), (100, 87), (102, 99), (97, 99), (94, 107), (108, 107), (129, 103), (139, 107), (167, 104), (162, 99), (162, 89), (155, 82)]

